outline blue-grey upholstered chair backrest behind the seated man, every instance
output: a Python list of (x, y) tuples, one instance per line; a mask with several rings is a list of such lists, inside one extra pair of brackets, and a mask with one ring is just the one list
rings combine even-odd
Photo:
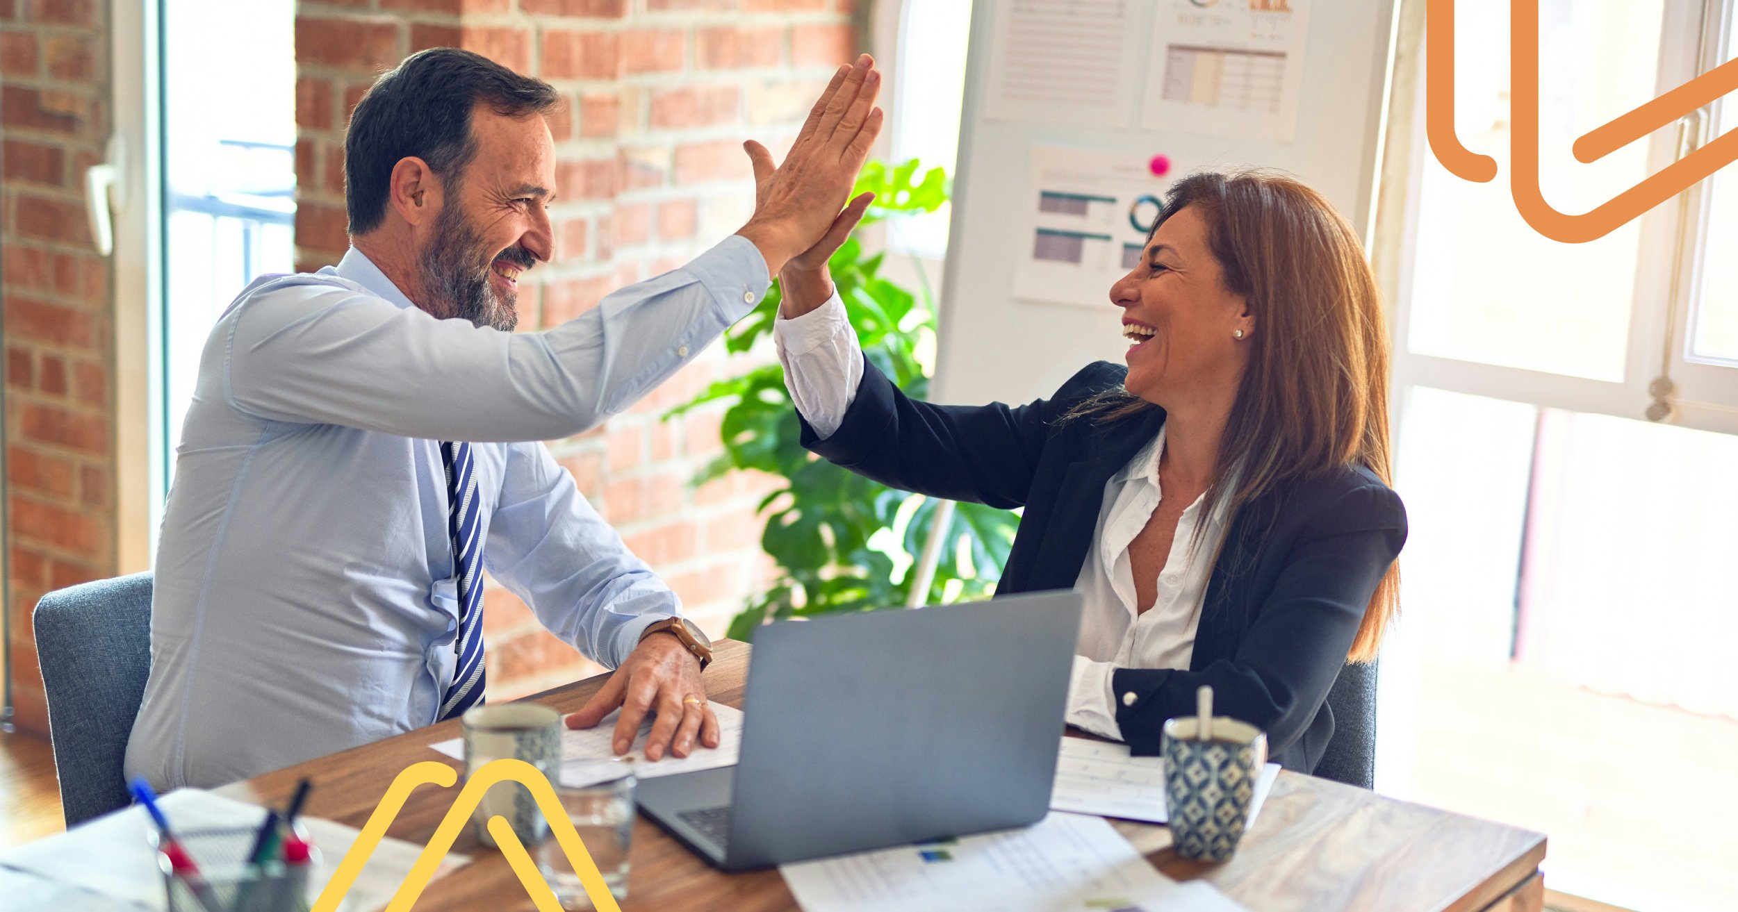
[(151, 674), (151, 573), (49, 592), (36, 603), (35, 629), (71, 827), (132, 801), (122, 766)]

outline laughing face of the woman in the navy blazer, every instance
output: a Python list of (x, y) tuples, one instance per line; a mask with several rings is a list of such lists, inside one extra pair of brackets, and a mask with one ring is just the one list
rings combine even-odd
[(1255, 318), (1225, 288), (1196, 207), (1159, 226), (1140, 264), (1111, 287), (1111, 302), (1123, 307), (1123, 335), (1133, 342), (1124, 354), (1131, 394), (1164, 408), (1236, 394)]

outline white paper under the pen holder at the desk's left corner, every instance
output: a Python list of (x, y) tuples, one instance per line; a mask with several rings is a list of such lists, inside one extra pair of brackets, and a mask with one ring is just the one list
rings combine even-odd
[[(200, 789), (181, 789), (160, 799), (163, 815), (169, 816), (176, 832), (228, 827), (259, 827), (266, 818), (266, 810), (259, 804), (235, 801)], [(320, 851), (320, 867), (311, 872), (311, 882), (325, 884), (332, 879), (349, 844), (356, 841), (358, 830), (332, 820), (311, 816), (297, 818), (308, 837)], [(167, 907), (163, 896), (163, 876), (156, 867), (156, 849), (151, 848), (148, 834), (155, 830), (144, 808), (132, 806), (99, 816), (80, 827), (73, 827), (59, 836), (38, 839), (0, 853), (0, 867), (33, 874), (43, 881), (71, 884), (80, 889), (97, 893), (104, 900), (113, 900), (122, 907), (162, 910)], [(422, 846), (401, 839), (381, 839), (368, 863), (351, 886), (348, 898), (339, 905), (341, 912), (374, 912), (391, 902), (393, 893), (410, 874), (410, 865), (422, 855)], [(436, 870), (441, 874), (468, 863), (464, 855), (447, 855)], [(196, 858), (195, 858), (196, 862)], [(12, 905), (5, 907), (12, 912)], [(61, 905), (56, 912), (66, 912)]]

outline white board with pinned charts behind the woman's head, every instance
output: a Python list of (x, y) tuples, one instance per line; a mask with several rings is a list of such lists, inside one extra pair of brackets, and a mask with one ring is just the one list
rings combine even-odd
[[(977, 0), (932, 398), (959, 405), (1046, 398), (1090, 361), (1121, 363), (1128, 347), (1121, 339), (1121, 311), (1109, 299), (1109, 281), (1076, 283), (1079, 290), (1072, 304), (1022, 299), (1018, 294), (1034, 287), (1022, 274), (1022, 261), (1034, 255), (1034, 149), (1046, 160), (1057, 160), (1058, 151), (1078, 149), (1081, 155), (1072, 158), (1079, 162), (1119, 163), (1124, 172), (1138, 172), (1151, 181), (1154, 195), (1163, 195), (1171, 179), (1201, 167), (1279, 169), (1326, 195), (1368, 243), (1394, 2)], [(1274, 3), (1291, 3), (1307, 12), (1307, 35), (1298, 38), (1302, 54), (1295, 54), (1302, 57), (1295, 75), (1295, 129), (1272, 127), (1269, 135), (1258, 135), (1260, 129), (1175, 111), (1161, 111), (1161, 129), (1142, 127), (1154, 122), (1154, 106), (1173, 89), (1164, 83), (1164, 92), (1149, 92), (1149, 85), (1168, 78), (1163, 68), (1173, 61), (1161, 59), (1163, 50), (1177, 50), (1177, 42), (1187, 40), (1170, 35), (1184, 21), (1178, 19), (1180, 7), (1244, 12), (1253, 7), (1267, 10)], [(1067, 16), (1071, 10), (1126, 19), (1121, 80), (1102, 76), (1114, 69), (1107, 69), (1109, 54), (1085, 54), (1085, 59), (1071, 63), (1062, 50), (1069, 45), (1067, 30), (1043, 38), (1015, 33), (1025, 42), (1018, 52), (996, 47), (998, 26), (1031, 21), (1038, 12)], [(1043, 52), (1034, 52), (1036, 40), (1043, 40)], [(1020, 111), (1010, 111), (1008, 92), (1001, 90), (1010, 85), (1010, 57), (1025, 68), (1027, 80), (1043, 73), (1058, 85), (1071, 76), (1114, 83), (1104, 87), (1102, 97), (1091, 99), (1097, 111), (1093, 104), (1031, 104), (1031, 116), (1022, 118)], [(1170, 75), (1175, 76), (1175, 71)], [(1152, 177), (1147, 163), (1159, 155), (1171, 162), (1171, 170)], [(1017, 274), (1022, 274), (1018, 287)]]

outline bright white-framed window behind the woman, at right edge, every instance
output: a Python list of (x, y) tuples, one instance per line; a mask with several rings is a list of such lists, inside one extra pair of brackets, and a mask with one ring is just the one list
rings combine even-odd
[[(1422, 3), (1411, 5), (1422, 17)], [(1542, 0), (1543, 193), (1587, 212), (1738, 125), (1738, 99), (1592, 165), (1576, 137), (1733, 56), (1733, 0)], [(1510, 198), (1509, 3), (1456, 3), (1456, 134), (1423, 142), (1396, 294), (1396, 486), (1411, 537), (1383, 650), (1378, 787), (1550, 834), (1550, 889), (1630, 909), (1738, 895), (1738, 167), (1590, 243)], [(1648, 420), (1653, 419), (1653, 420)], [(1670, 846), (1637, 839), (1670, 832)]]

